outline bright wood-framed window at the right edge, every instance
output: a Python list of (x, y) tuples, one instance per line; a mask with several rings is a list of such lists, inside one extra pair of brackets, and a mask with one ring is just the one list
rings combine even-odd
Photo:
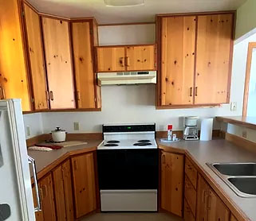
[(256, 117), (256, 42), (248, 47), (243, 116)]

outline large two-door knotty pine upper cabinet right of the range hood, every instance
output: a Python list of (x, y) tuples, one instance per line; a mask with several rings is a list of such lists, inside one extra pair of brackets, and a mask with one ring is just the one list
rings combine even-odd
[(159, 108), (229, 103), (234, 12), (157, 17)]

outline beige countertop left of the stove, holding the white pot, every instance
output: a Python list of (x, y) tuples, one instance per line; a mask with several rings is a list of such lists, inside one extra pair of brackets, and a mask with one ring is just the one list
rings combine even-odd
[(37, 178), (40, 179), (51, 169), (53, 169), (57, 164), (61, 163), (61, 161), (65, 161), (65, 159), (69, 156), (96, 150), (97, 145), (99, 145), (102, 141), (85, 140), (85, 142), (87, 142), (87, 144), (67, 146), (48, 152), (28, 150), (29, 156), (33, 157), (36, 162)]

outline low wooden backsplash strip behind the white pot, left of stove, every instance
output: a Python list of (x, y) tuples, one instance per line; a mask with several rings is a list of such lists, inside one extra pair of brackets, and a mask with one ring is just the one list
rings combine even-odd
[[(51, 134), (41, 134), (33, 138), (29, 138), (26, 140), (26, 145), (31, 146), (40, 142), (45, 142), (46, 140), (50, 140)], [(85, 141), (85, 140), (103, 140), (102, 133), (81, 133), (81, 134), (67, 134), (66, 141)]]

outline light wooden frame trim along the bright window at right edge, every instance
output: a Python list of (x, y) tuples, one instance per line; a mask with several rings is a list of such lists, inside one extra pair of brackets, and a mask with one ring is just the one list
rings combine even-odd
[(242, 116), (247, 116), (249, 85), (250, 85), (250, 68), (251, 68), (251, 60), (252, 60), (254, 48), (256, 48), (256, 42), (250, 42), (248, 45), (248, 52), (247, 52), (246, 79), (245, 79), (245, 90), (243, 94)]

